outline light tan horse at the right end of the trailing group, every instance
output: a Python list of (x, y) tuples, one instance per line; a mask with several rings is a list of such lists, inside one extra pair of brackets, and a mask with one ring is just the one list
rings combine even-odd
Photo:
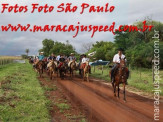
[(81, 76), (83, 77), (83, 81), (87, 78), (87, 82), (89, 82), (89, 62), (85, 63), (85, 67), (81, 69)]

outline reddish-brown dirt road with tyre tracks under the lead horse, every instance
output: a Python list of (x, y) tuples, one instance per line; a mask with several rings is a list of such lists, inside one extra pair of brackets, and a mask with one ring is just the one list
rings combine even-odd
[[(152, 122), (153, 100), (127, 92), (127, 102), (123, 101), (122, 91), (120, 99), (113, 96), (112, 88), (100, 82), (83, 82), (80, 78), (60, 80), (55, 78), (67, 92), (84, 104), (91, 117), (96, 117), (101, 122)], [(161, 104), (160, 111), (163, 111)], [(163, 116), (160, 113), (160, 120)], [(90, 118), (91, 121), (91, 118)]]

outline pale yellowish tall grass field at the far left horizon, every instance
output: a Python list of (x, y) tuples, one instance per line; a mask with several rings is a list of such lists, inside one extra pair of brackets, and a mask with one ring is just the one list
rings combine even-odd
[(19, 56), (0, 56), (0, 66), (12, 63), (13, 60), (21, 59)]

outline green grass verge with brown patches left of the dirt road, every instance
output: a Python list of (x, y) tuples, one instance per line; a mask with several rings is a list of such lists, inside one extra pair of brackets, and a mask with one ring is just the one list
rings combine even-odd
[(0, 121), (50, 121), (49, 101), (28, 63), (0, 67)]

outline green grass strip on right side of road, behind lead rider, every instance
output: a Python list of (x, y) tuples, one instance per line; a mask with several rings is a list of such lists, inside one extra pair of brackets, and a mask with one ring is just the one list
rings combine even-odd
[[(100, 67), (96, 67), (95, 72), (92, 68), (91, 76), (110, 82), (109, 71), (110, 68), (105, 67), (104, 72), (102, 74)], [(163, 86), (163, 70), (160, 71), (160, 77), (160, 89), (161, 91), (163, 91), (163, 87), (161, 87)], [(152, 78), (152, 69), (131, 69), (128, 84), (131, 87), (143, 90), (145, 92), (153, 93), (152, 90), (154, 90), (154, 86)], [(160, 94), (163, 95), (162, 92)]]

